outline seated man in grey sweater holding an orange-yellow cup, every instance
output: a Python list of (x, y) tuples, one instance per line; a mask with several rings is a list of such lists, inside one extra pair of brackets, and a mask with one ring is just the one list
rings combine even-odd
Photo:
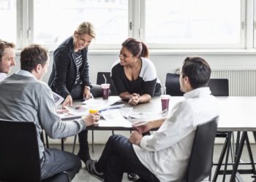
[[(64, 171), (74, 178), (79, 172), (79, 157), (59, 149), (45, 149), (40, 139), (42, 129), (51, 138), (65, 138), (97, 124), (99, 114), (62, 122), (56, 114), (53, 94), (42, 76), (48, 71), (47, 50), (31, 45), (20, 52), (20, 71), (0, 82), (0, 118), (20, 122), (34, 122), (37, 127), (42, 179), (67, 181)], [(66, 178), (66, 179), (65, 179)]]

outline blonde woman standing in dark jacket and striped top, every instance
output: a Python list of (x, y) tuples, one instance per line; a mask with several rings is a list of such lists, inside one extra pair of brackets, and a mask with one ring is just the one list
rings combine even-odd
[[(92, 86), (89, 81), (87, 52), (94, 38), (94, 25), (83, 22), (53, 53), (53, 70), (48, 84), (53, 92), (65, 98), (63, 107), (72, 106), (73, 99), (91, 97)], [(83, 162), (91, 159), (87, 135), (88, 130), (83, 130), (78, 135), (80, 143), (78, 157)]]

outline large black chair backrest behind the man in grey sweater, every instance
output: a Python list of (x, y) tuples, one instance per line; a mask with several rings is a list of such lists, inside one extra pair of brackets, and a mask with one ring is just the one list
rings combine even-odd
[(0, 181), (41, 181), (37, 130), (33, 122), (0, 119)]

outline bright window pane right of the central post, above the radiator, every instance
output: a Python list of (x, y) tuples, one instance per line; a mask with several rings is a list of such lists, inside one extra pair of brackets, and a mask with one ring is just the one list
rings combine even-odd
[(240, 0), (147, 0), (145, 9), (149, 44), (242, 46)]

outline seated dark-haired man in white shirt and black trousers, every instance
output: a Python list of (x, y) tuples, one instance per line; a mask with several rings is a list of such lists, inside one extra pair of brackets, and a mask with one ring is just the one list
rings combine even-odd
[[(211, 68), (203, 58), (186, 58), (179, 79), (184, 100), (167, 119), (135, 126), (128, 138), (112, 135), (99, 161), (88, 160), (91, 175), (106, 182), (121, 181), (123, 173), (137, 173), (141, 181), (187, 181), (187, 167), (198, 124), (219, 113), (208, 80)], [(141, 133), (159, 129), (152, 135)]]

